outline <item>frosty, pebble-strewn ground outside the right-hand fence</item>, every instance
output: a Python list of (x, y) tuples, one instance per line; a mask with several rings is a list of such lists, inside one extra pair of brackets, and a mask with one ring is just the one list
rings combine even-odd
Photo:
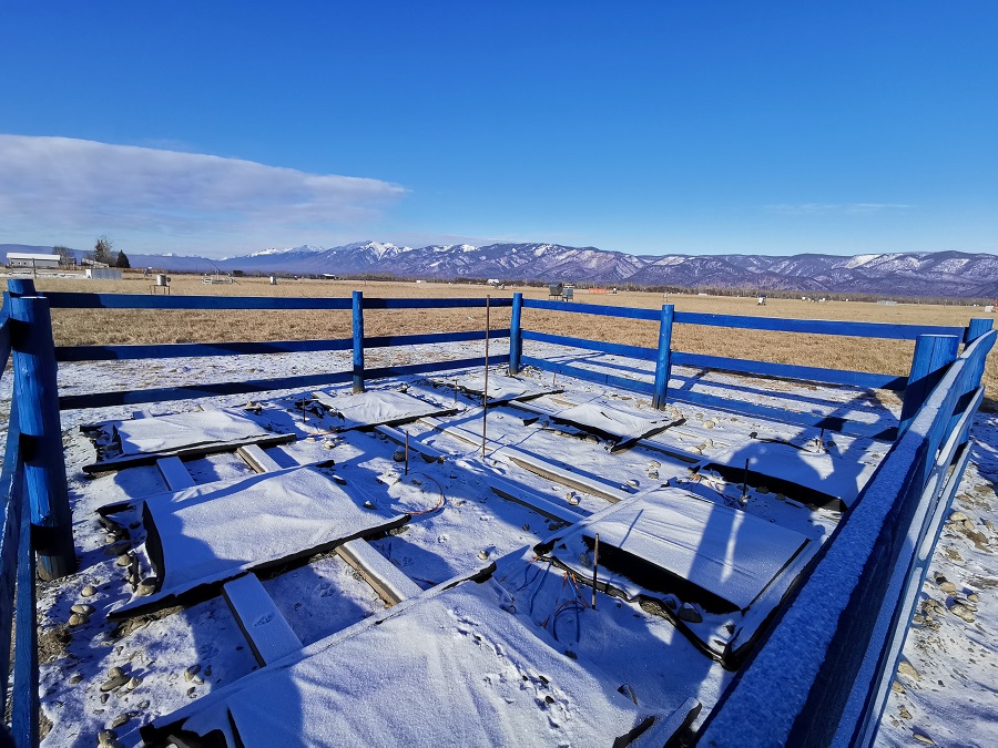
[(998, 416), (978, 414), (878, 745), (998, 746)]

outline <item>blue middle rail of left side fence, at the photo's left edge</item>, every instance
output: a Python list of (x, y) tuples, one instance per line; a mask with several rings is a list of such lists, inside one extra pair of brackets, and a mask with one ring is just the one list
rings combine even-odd
[(0, 714), (7, 714), (14, 584), (18, 574), (21, 518), (26, 513), (24, 465), (20, 460), (19, 444), (18, 401), (14, 398), (11, 401), (3, 471), (0, 473)]

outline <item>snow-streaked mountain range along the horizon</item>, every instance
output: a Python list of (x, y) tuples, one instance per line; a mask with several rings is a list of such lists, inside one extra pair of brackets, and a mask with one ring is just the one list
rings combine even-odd
[[(51, 247), (0, 244), (0, 252)], [(82, 253), (77, 250), (82, 257)], [(399, 247), (380, 242), (345, 246), (274, 248), (208, 259), (126, 253), (132, 267), (174, 273), (363, 276), (391, 275), (451, 280), (574, 281), (683, 288), (797, 290), (809, 294), (877, 294), (898, 297), (995, 298), (998, 256), (961, 252), (841, 255), (630, 255), (559, 244), (468, 244)]]

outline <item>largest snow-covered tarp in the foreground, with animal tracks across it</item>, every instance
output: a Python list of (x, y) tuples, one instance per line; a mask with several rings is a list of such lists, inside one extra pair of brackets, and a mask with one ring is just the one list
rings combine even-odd
[(492, 581), (427, 595), (211, 695), (174, 724), (247, 748), (610, 746), (659, 717), (553, 648), (509, 603)]

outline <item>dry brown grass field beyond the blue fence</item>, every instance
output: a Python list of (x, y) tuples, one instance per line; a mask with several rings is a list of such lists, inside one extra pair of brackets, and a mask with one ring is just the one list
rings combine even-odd
[[(121, 281), (39, 277), (40, 290), (147, 294), (150, 279), (128, 274)], [(202, 283), (200, 276), (173, 276), (173, 294), (225, 296), (315, 296), (348, 297), (354, 289), (383, 298), (478, 297), (509, 298), (520, 290), (527, 298), (547, 299), (546, 288), (507, 288), (444, 283), (383, 283), (356, 280), (284, 280), (271, 286), (266, 278), (242, 278), (238, 284)], [(660, 294), (622, 291), (618, 295), (587, 294), (577, 289), (576, 301), (609, 306), (660, 308)], [(756, 306), (754, 297), (717, 297), (670, 294), (676, 311), (725, 315), (834, 319), (843, 321), (897, 322), (909, 325), (966, 325), (971, 317), (989, 317), (981, 308), (898, 304), (894, 307), (834, 301), (825, 304), (770, 299)], [(150, 342), (218, 342), (241, 340), (293, 340), (345, 338), (350, 336), (348, 311), (151, 311), (54, 309), (52, 322), (57, 345), (104, 345)], [(493, 309), (493, 328), (508, 327), (509, 309)], [(655, 347), (655, 322), (590, 315), (523, 311), (523, 326), (557, 335)], [(368, 311), (365, 335), (475, 330), (485, 327), (485, 309), (417, 309)], [(678, 325), (673, 348), (696, 353), (751, 358), (780, 363), (853, 369), (905, 375), (910, 365), (913, 342), (869, 340), (851, 337), (764, 332), (730, 328)], [(989, 393), (998, 387), (998, 359), (991, 355), (985, 368)]]

